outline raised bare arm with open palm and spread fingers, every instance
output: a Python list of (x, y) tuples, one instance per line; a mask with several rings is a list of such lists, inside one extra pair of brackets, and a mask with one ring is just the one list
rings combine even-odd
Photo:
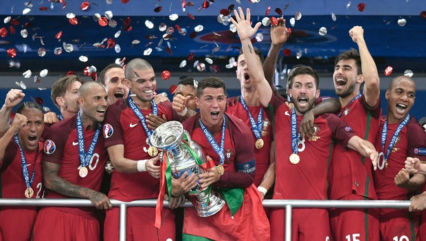
[(256, 53), (254, 52), (254, 48), (251, 44), (250, 39), (251, 36), (256, 34), (261, 23), (256, 23), (254, 28), (252, 28), (250, 23), (249, 8), (247, 8), (247, 18), (245, 18), (243, 10), (240, 7), (238, 7), (238, 12), (234, 10), (236, 20), (231, 19), (231, 21), (236, 26), (238, 36), (240, 36), (245, 61), (249, 69), (250, 77), (254, 79), (254, 83), (256, 85), (259, 96), (259, 101), (264, 107), (267, 107), (273, 93), (268, 81), (265, 78), (265, 74), (262, 70), (262, 64), (260, 63), (258, 56), (256, 56)]

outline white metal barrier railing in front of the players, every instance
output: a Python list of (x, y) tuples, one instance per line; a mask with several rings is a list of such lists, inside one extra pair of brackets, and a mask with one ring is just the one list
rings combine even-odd
[[(122, 202), (112, 200), (113, 207), (120, 207), (120, 241), (126, 240), (126, 209), (127, 207), (155, 207), (157, 200), (136, 200)], [(263, 207), (284, 207), (285, 212), (285, 241), (291, 241), (291, 218), (293, 208), (392, 208), (407, 209), (410, 201), (394, 200), (263, 200)], [(37, 206), (37, 207), (92, 207), (86, 199), (14, 199), (0, 198), (0, 206)], [(164, 207), (168, 202), (164, 201)], [(182, 207), (193, 207), (186, 202)]]

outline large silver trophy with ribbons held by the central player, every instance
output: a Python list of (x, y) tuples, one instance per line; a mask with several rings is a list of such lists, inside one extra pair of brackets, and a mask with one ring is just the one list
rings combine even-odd
[[(183, 141), (184, 138), (185, 141)], [(168, 156), (173, 178), (180, 178), (185, 171), (188, 172), (188, 176), (191, 174), (199, 176), (206, 172), (197, 164), (196, 160), (198, 157), (201, 163), (207, 162), (203, 150), (191, 140), (189, 133), (183, 129), (181, 123), (168, 121), (160, 125), (153, 132), (150, 142), (153, 147), (157, 147)], [(221, 193), (211, 190), (209, 187), (201, 188), (200, 184), (187, 194), (195, 196), (197, 199), (195, 211), (200, 217), (212, 216), (225, 205)]]

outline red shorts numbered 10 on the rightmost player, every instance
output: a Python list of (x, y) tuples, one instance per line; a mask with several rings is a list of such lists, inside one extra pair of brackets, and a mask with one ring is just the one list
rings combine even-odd
[[(389, 210), (389, 209), (388, 209)], [(380, 216), (380, 240), (420, 241), (420, 213), (392, 209)]]

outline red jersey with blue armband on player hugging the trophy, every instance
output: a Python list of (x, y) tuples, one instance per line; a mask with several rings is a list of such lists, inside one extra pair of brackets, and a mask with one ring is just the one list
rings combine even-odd
[[(214, 151), (208, 138), (199, 125), (200, 114), (188, 118), (182, 123), (192, 138), (204, 153), (213, 159), (214, 164), (219, 165), (221, 158)], [(223, 167), (225, 173), (213, 184), (213, 187), (249, 187), (254, 180), (256, 161), (254, 158), (254, 143), (251, 129), (238, 118), (225, 114), (225, 161)], [(222, 132), (214, 136), (214, 140), (221, 145)]]

